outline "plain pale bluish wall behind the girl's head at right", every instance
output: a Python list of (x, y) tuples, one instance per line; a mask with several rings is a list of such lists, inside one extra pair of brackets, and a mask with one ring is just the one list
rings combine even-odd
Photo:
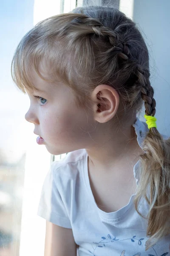
[(150, 52), (157, 127), (170, 136), (170, 1), (134, 0), (133, 20), (144, 31)]

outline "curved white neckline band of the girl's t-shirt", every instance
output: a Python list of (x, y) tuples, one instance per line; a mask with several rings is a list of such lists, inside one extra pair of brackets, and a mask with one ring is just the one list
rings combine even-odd
[[(146, 123), (144, 123), (144, 122), (140, 121), (138, 118), (136, 118), (136, 122), (133, 124), (133, 127), (135, 128), (135, 132), (137, 135), (137, 142), (138, 142), (139, 146), (142, 148), (142, 142), (143, 142), (144, 137), (146, 136), (147, 131), (148, 131), (147, 125), (146, 125)], [(94, 204), (94, 207), (96, 208), (96, 211), (99, 213), (99, 216), (102, 219), (102, 221), (107, 222), (107, 223), (120, 221), (125, 216), (125, 213), (127, 213), (127, 211), (130, 210), (130, 208), (133, 204), (133, 198), (135, 195), (134, 194), (131, 195), (128, 204), (126, 204), (124, 207), (120, 208), (119, 210), (117, 210), (115, 212), (105, 212), (97, 206), (96, 201), (94, 199), (94, 195), (91, 190), (89, 174), (88, 174), (88, 154), (87, 154), (86, 150), (85, 150), (85, 156), (84, 156), (83, 170), (84, 170), (85, 186), (86, 186), (86, 189), (88, 190), (88, 195), (90, 196), (90, 198)], [(133, 167), (133, 175), (136, 179), (136, 184), (138, 184), (139, 176), (140, 176), (139, 160)]]

